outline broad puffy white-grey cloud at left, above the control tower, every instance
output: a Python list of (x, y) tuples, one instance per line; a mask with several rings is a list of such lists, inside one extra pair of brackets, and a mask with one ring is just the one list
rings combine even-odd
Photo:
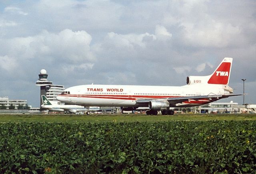
[(48, 61), (56, 58), (58, 61), (73, 63), (93, 61), (95, 57), (90, 51), (91, 40), (91, 36), (85, 31), (73, 32), (66, 29), (53, 34), (44, 30), (36, 36), (2, 40), (2, 44), (5, 43), (2, 54), (10, 55), (16, 60), (44, 60), (44, 57), (48, 57)]

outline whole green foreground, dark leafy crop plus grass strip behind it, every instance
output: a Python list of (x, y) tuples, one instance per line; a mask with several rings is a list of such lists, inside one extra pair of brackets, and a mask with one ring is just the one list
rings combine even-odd
[(255, 117), (1, 115), (0, 173), (253, 173)]

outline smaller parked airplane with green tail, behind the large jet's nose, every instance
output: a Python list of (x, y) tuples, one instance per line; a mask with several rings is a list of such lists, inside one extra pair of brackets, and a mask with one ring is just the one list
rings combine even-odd
[(42, 108), (56, 111), (56, 112), (86, 112), (87, 115), (90, 115), (90, 111), (100, 110), (100, 107), (89, 107), (85, 108), (84, 106), (78, 105), (62, 105), (62, 104), (52, 104), (45, 95), (42, 95)]

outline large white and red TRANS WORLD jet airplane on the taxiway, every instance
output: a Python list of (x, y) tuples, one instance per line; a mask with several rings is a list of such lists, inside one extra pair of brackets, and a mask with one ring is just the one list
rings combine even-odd
[(230, 96), (228, 86), (233, 58), (224, 58), (208, 76), (188, 76), (184, 86), (80, 85), (67, 88), (57, 100), (81, 106), (112, 106), (131, 111), (148, 107), (147, 115), (173, 115), (170, 107), (192, 107)]

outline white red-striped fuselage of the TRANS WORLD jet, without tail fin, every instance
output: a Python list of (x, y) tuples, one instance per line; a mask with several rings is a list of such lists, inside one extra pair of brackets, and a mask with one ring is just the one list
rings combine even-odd
[[(185, 86), (134, 86), (134, 85), (80, 85), (67, 88), (66, 94), (57, 96), (57, 100), (68, 104), (82, 106), (126, 106), (147, 107), (136, 103), (137, 99), (160, 99), (171, 97), (206, 96), (224, 94), (219, 84), (193, 84)], [(177, 107), (199, 106), (206, 104), (209, 99), (190, 100)]]

